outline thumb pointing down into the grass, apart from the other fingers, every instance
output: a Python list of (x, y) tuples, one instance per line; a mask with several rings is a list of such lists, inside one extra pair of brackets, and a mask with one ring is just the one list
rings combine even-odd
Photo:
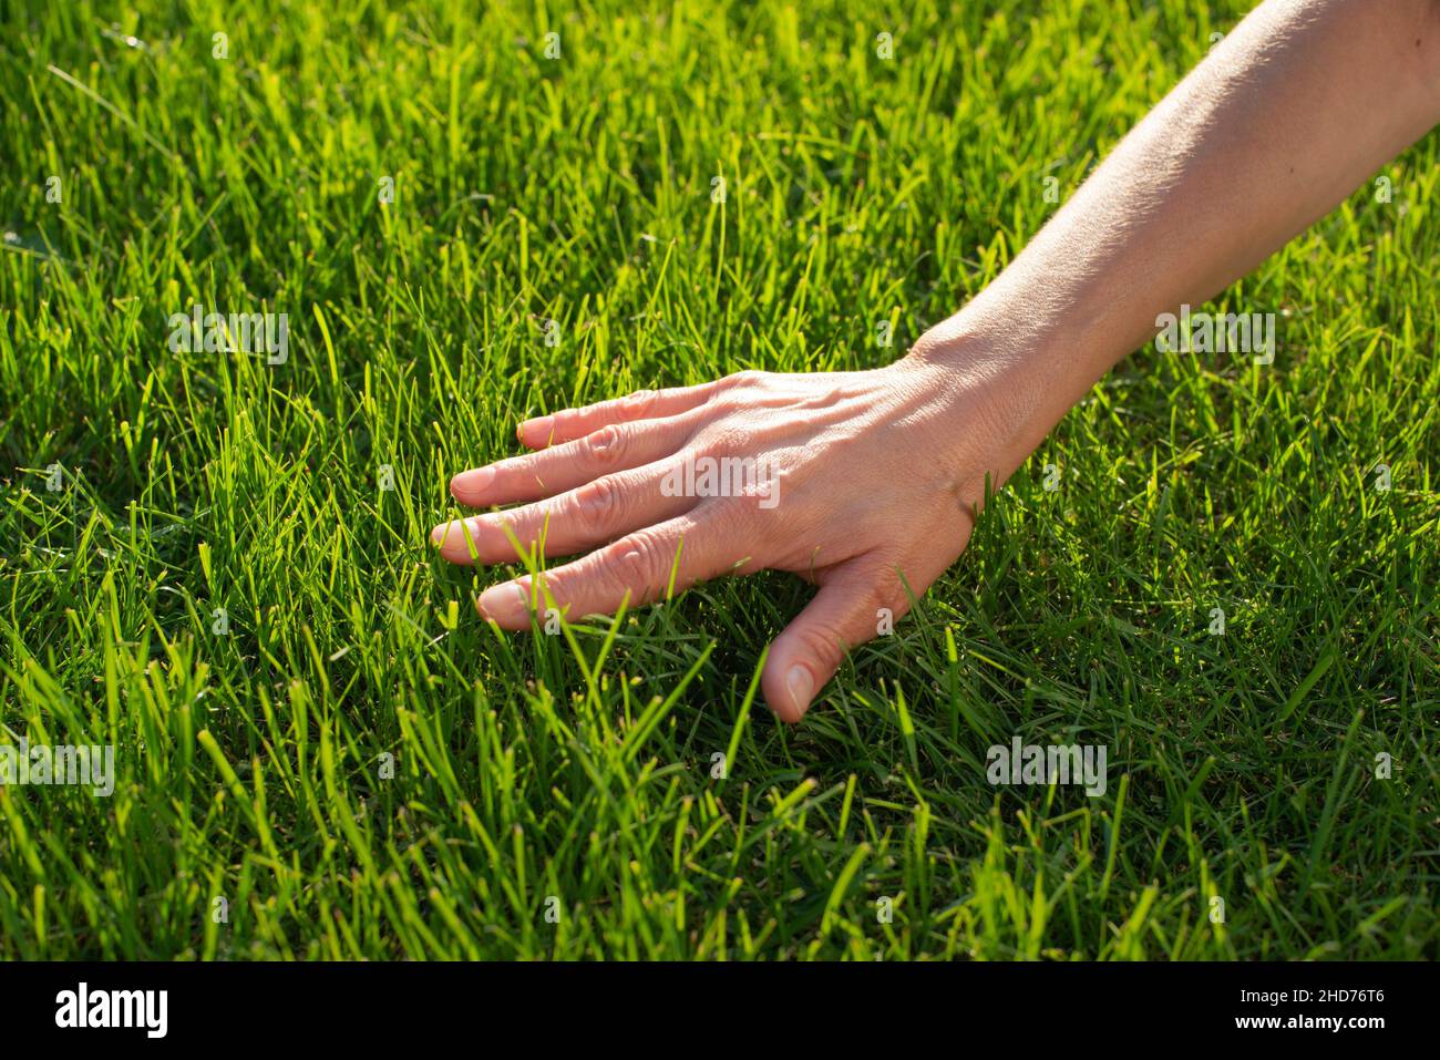
[(782, 722), (799, 722), (815, 693), (835, 675), (845, 651), (876, 637), (877, 614), (886, 606), (877, 588), (874, 578), (847, 572), (822, 585), (775, 638), (760, 688)]

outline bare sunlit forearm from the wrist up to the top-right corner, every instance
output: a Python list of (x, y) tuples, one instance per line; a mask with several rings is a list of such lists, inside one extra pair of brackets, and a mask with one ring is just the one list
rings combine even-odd
[(1269, 0), (914, 356), (1022, 379), (1024, 451), (1440, 120), (1440, 3)]

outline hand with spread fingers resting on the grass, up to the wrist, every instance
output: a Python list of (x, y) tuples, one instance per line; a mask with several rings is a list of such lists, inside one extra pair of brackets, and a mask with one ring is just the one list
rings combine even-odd
[[(923, 341), (923, 340), (922, 340)], [(487, 589), (505, 629), (530, 609), (575, 619), (727, 573), (789, 570), (819, 586), (770, 648), (762, 690), (798, 722), (847, 648), (899, 619), (965, 549), (989, 472), (1024, 459), (1011, 373), (917, 354), (870, 372), (742, 372), (520, 425), (536, 452), (456, 475), (469, 507), (435, 527), (455, 563), (508, 563), (543, 542), (553, 567)], [(677, 562), (678, 556), (678, 562)], [(907, 588), (909, 586), (909, 592)]]

